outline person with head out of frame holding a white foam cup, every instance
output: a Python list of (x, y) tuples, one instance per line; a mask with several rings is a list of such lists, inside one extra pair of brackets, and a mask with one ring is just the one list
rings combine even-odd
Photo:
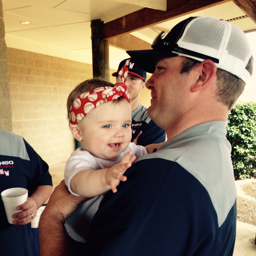
[(30, 223), (52, 191), (48, 165), (19, 135), (0, 130), (0, 144), (1, 255), (35, 256)]

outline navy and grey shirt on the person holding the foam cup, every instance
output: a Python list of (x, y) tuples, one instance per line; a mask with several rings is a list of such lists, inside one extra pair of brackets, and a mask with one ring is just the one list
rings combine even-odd
[[(0, 192), (12, 187), (27, 188), (31, 194), (36, 187), (52, 186), (48, 165), (23, 139), (0, 130)], [(0, 200), (0, 237), (2, 256), (36, 256), (37, 251), (31, 223), (9, 224)]]

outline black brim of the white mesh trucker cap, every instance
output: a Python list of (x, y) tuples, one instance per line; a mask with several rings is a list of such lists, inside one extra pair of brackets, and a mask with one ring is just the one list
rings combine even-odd
[[(127, 54), (131, 56), (134, 62), (143, 70), (148, 73), (154, 73), (155, 71), (155, 57), (173, 57), (177, 56), (170, 51), (157, 51), (157, 50), (136, 50), (136, 51), (126, 51)], [(113, 75), (113, 74), (112, 74)]]

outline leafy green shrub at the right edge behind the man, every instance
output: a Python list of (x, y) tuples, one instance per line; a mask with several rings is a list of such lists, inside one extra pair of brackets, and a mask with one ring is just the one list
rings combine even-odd
[(227, 139), (231, 143), (234, 176), (256, 177), (256, 102), (238, 102), (229, 113)]

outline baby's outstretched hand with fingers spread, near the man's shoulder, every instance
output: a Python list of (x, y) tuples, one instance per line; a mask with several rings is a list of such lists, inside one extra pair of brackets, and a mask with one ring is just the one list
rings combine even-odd
[(106, 172), (106, 182), (110, 185), (113, 193), (117, 191), (116, 186), (119, 185), (120, 180), (125, 181), (127, 179), (124, 176), (124, 172), (132, 165), (135, 161), (136, 156), (132, 156), (132, 151), (129, 151), (118, 164), (115, 164)]

